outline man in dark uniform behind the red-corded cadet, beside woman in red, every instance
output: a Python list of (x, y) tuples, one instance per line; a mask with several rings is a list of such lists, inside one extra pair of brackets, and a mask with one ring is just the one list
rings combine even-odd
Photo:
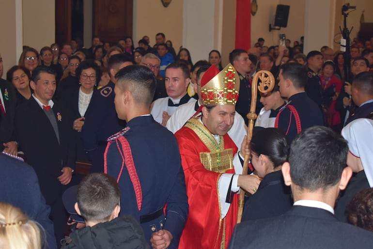
[(323, 67), (323, 55), (319, 51), (311, 51), (307, 54), (308, 83), (307, 95), (323, 110), (323, 88), (318, 71)]

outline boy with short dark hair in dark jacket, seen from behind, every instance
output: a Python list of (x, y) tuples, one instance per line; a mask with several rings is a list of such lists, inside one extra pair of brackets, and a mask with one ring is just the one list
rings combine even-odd
[(75, 210), (84, 218), (86, 227), (70, 234), (72, 242), (66, 249), (149, 248), (134, 218), (129, 215), (118, 218), (120, 197), (119, 186), (112, 176), (87, 175), (78, 185), (78, 202), (75, 202)]

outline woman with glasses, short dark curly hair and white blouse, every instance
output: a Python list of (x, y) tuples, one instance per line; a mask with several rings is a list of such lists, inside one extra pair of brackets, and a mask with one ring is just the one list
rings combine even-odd
[(70, 110), (70, 118), (73, 121), (75, 140), (77, 146), (77, 160), (89, 160), (83, 150), (81, 139), (81, 127), (84, 124), (84, 115), (91, 102), (93, 92), (96, 90), (95, 85), (101, 79), (101, 70), (92, 60), (81, 62), (76, 70), (79, 79), (79, 85), (74, 88), (66, 89), (61, 94), (61, 101), (66, 109)]

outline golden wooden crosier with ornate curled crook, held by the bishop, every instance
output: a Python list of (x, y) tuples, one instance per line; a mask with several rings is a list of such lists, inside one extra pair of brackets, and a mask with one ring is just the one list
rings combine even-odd
[[(258, 91), (257, 88), (261, 93), (269, 93), (275, 87), (275, 77), (269, 71), (261, 70), (254, 75), (251, 84), (251, 104), (250, 104), (250, 112), (248, 113), (247, 117), (249, 119), (249, 129), (248, 129), (248, 136), (247, 141), (250, 141), (252, 138), (252, 130), (254, 128), (255, 119), (258, 115), (255, 113), (256, 108), (256, 99)], [(244, 169), (242, 174), (246, 175), (248, 173), (249, 167), (249, 159), (251, 155), (245, 155), (244, 160)], [(238, 216), (237, 216), (237, 223), (241, 222), (242, 218), (242, 211), (244, 210), (244, 199), (245, 199), (245, 191), (241, 188), (240, 193), (240, 200), (238, 202)]]

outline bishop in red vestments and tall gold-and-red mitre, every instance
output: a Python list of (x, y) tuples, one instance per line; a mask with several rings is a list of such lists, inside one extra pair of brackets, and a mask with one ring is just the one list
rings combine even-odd
[(240, 187), (254, 193), (260, 180), (242, 175), (246, 137), (241, 151), (227, 132), (232, 127), (239, 78), (231, 64), (221, 72), (213, 65), (201, 74), (202, 115), (175, 133), (187, 185), (189, 214), (179, 249), (228, 247), (237, 220)]

